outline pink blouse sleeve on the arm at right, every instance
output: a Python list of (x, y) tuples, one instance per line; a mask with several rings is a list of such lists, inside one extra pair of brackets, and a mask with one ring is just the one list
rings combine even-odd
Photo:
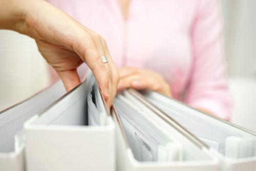
[(232, 100), (226, 77), (219, 2), (199, 2), (190, 32), (193, 68), (185, 102), (229, 120)]

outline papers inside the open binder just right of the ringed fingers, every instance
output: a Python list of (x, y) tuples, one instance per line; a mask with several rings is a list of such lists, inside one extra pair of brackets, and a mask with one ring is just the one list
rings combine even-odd
[(118, 95), (115, 105), (125, 135), (138, 161), (182, 160), (182, 145), (157, 124), (146, 120), (136, 106)]

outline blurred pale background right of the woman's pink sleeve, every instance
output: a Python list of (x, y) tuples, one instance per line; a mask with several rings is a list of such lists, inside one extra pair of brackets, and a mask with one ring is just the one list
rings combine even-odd
[(231, 122), (256, 132), (256, 1), (222, 0)]

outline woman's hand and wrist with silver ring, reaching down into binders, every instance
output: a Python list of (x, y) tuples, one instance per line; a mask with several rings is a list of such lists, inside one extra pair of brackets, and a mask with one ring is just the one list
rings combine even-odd
[[(67, 91), (80, 83), (76, 69), (86, 62), (106, 103), (112, 104), (119, 75), (100, 35), (43, 0), (0, 0), (0, 6), (5, 7), (0, 11), (0, 29), (15, 30), (34, 38), (40, 53), (57, 71)], [(108, 62), (103, 63), (101, 56)]]

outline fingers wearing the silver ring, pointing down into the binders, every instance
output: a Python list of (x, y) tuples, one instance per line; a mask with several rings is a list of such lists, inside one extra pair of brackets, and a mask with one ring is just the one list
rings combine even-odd
[[(110, 108), (116, 95), (119, 75), (105, 40), (95, 32), (91, 31), (90, 34), (92, 41), (87, 42), (89, 45), (84, 50), (83, 60), (91, 68), (103, 97), (106, 100), (106, 104)], [(101, 56), (105, 56), (108, 62), (103, 63)]]

